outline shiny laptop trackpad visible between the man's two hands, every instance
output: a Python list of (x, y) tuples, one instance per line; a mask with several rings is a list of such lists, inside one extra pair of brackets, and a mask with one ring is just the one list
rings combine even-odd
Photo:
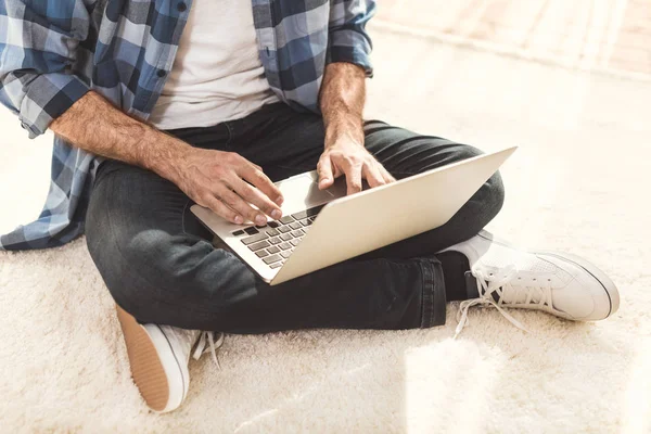
[(339, 193), (339, 189), (335, 188), (339, 186), (333, 186), (328, 190), (319, 190), (319, 186), (315, 182), (309, 173), (282, 181), (278, 187), (284, 197), (284, 203), (282, 204), (283, 213), (306, 209), (340, 197), (340, 195), (336, 194)]

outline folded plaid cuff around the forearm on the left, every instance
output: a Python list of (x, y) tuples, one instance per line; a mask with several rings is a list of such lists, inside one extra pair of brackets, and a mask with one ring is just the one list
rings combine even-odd
[(27, 86), (27, 93), (21, 103), (21, 126), (29, 132), (30, 139), (44, 133), (53, 119), (89, 90), (90, 87), (76, 75), (37, 75)]

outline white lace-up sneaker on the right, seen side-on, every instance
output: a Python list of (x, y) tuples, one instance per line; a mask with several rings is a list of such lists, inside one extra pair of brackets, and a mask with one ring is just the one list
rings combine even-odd
[(509, 321), (524, 327), (502, 307), (542, 310), (574, 321), (608, 318), (620, 307), (620, 293), (596, 266), (574, 255), (525, 252), (496, 240), (487, 231), (446, 251), (468, 257), (478, 298), (461, 302), (457, 334), (474, 305), (494, 306)]

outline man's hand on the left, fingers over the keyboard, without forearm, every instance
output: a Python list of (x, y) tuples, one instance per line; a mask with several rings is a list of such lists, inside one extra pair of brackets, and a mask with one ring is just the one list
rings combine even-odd
[(263, 213), (275, 220), (282, 217), (282, 193), (261, 167), (243, 156), (188, 148), (178, 165), (177, 186), (199, 205), (227, 220), (237, 225), (251, 220), (263, 226), (267, 224)]

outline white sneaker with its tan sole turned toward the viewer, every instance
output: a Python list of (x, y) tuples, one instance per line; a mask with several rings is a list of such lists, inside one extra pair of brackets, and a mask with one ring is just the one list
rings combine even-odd
[(190, 385), (188, 362), (197, 340), (194, 358), (203, 354), (206, 341), (209, 341), (208, 349), (212, 349), (214, 360), (219, 366), (215, 349), (224, 342), (222, 333), (215, 343), (213, 333), (170, 326), (140, 324), (119, 306), (116, 306), (116, 310), (127, 345), (133, 382), (152, 410), (168, 412), (178, 408), (186, 399)]

